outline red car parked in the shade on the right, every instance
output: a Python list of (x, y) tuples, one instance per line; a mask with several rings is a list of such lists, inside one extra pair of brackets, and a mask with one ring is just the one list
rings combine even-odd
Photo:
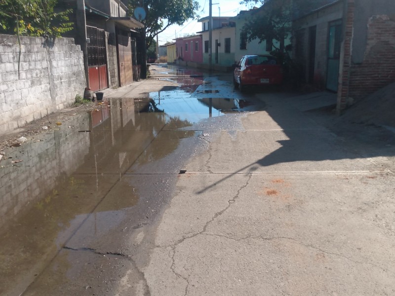
[(274, 56), (246, 55), (234, 66), (233, 83), (241, 91), (244, 91), (249, 85), (282, 83), (283, 71)]

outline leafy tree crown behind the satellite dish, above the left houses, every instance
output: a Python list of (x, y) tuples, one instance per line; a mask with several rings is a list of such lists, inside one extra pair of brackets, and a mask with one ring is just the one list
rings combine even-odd
[(195, 18), (199, 8), (196, 0), (130, 0), (129, 11), (133, 12), (136, 7), (142, 7), (143, 2), (147, 15), (141, 22), (145, 26), (147, 48), (154, 37), (169, 26), (182, 25), (188, 19)]

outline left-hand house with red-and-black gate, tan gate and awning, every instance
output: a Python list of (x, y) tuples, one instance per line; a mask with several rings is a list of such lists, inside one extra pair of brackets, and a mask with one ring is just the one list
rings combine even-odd
[(75, 37), (84, 56), (87, 86), (98, 91), (138, 79), (143, 24), (128, 16), (120, 0), (59, 0), (58, 7), (73, 8)]

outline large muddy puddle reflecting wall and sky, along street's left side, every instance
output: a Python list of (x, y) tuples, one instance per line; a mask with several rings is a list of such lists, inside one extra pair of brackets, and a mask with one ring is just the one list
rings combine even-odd
[[(222, 116), (229, 124), (229, 114), (255, 108), (227, 82), (182, 74), (177, 89), (110, 99), (7, 151), (12, 158), (0, 169), (0, 295), (71, 289), (82, 270), (93, 272), (80, 252), (124, 257), (131, 250), (127, 238), (155, 220), (184, 161), (204, 145), (202, 122)], [(134, 268), (140, 281), (127, 262), (120, 273)], [(93, 281), (96, 295), (111, 288), (97, 283), (111, 283), (112, 274)], [(92, 295), (94, 284), (86, 282)]]

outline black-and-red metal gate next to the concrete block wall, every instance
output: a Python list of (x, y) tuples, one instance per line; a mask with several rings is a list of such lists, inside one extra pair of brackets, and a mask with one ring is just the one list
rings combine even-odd
[(87, 44), (89, 88), (93, 91), (102, 90), (108, 87), (104, 30), (86, 26), (86, 35), (89, 38)]

